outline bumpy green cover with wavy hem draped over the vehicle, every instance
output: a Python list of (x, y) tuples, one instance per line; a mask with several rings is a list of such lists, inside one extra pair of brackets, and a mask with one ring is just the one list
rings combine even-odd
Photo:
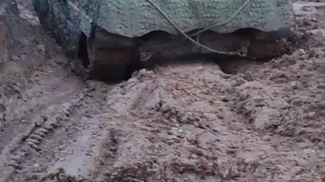
[[(150, 0), (184, 32), (224, 22), (246, 0)], [(110, 33), (137, 37), (152, 30), (179, 33), (148, 0), (33, 0), (41, 18), (51, 16), (62, 28), (89, 35), (94, 22)], [(273, 31), (292, 25), (291, 0), (252, 0), (218, 32), (239, 28)], [(72, 30), (67, 30), (72, 31)]]

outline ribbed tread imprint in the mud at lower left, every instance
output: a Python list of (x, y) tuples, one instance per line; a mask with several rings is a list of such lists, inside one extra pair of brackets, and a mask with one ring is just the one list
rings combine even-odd
[[(69, 102), (63, 103), (62, 105), (51, 105), (32, 120), (30, 130), (26, 134), (23, 134), (19, 141), (12, 142), (12, 144), (16, 145), (16, 147), (7, 150), (7, 153), (2, 154), (2, 161), (4, 161), (2, 165), (12, 166), (11, 169), (6, 167), (2, 168), (11, 170), (11, 172), (2, 173), (6, 175), (4, 176), (6, 180), (2, 181), (7, 181), (9, 179), (24, 180), (24, 178), (21, 178), (21, 174), (23, 174), (24, 170), (26, 170), (26, 167), (28, 168), (28, 166), (31, 164), (35, 164), (37, 161), (35, 159), (44, 156), (44, 153), (51, 154), (51, 152), (48, 151), (49, 148), (44, 146), (44, 140), (46, 140), (45, 144), (48, 143), (47, 140), (55, 137), (57, 134), (57, 129), (67, 131), (71, 127), (70, 122), (75, 123), (78, 121), (76, 120), (78, 119), (78, 116), (75, 114), (78, 115), (76, 112), (79, 110), (79, 102), (82, 99), (83, 98), (77, 97)], [(70, 119), (71, 117), (73, 119)], [(60, 137), (65, 137), (67, 135), (67, 133), (64, 132), (61, 134), (63, 135)], [(55, 138), (60, 140), (60, 137)], [(58, 143), (55, 144), (58, 145)], [(53, 148), (53, 146), (50, 146), (50, 148)], [(35, 159), (32, 159), (31, 157)], [(5, 161), (7, 161), (7, 163), (5, 163)], [(44, 169), (39, 169), (36, 171), (41, 172), (43, 170)]]

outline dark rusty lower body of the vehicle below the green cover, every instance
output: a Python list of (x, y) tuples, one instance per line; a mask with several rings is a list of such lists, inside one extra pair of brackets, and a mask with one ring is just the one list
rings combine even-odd
[[(203, 44), (221, 51), (238, 51), (243, 57), (222, 56), (222, 59), (269, 60), (288, 52), (288, 46), (281, 37), (288, 37), (290, 32), (265, 33), (259, 30), (244, 30), (227, 34), (208, 32), (201, 34)], [(148, 35), (147, 35), (148, 36)], [(156, 63), (176, 59), (220, 58), (189, 41), (179, 41), (179, 37), (166, 32), (155, 32), (149, 40), (127, 38), (110, 34), (96, 28), (93, 37), (88, 39), (88, 79), (118, 82), (127, 80), (133, 71), (141, 67), (150, 67)], [(148, 39), (148, 38), (146, 38)], [(171, 45), (171, 42), (176, 42)], [(172, 43), (173, 44), (173, 43)], [(157, 51), (158, 50), (158, 51)]]

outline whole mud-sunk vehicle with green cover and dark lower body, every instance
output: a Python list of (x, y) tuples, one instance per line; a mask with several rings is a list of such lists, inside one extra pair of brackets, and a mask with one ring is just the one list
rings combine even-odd
[(285, 52), (291, 0), (33, 0), (44, 28), (90, 79), (176, 59), (269, 59)]

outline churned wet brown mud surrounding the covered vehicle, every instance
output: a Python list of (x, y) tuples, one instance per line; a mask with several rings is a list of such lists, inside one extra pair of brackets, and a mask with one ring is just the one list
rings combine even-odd
[(296, 9), (290, 55), (116, 85), (72, 73), (31, 9), (0, 9), (1, 182), (325, 181), (325, 6)]

